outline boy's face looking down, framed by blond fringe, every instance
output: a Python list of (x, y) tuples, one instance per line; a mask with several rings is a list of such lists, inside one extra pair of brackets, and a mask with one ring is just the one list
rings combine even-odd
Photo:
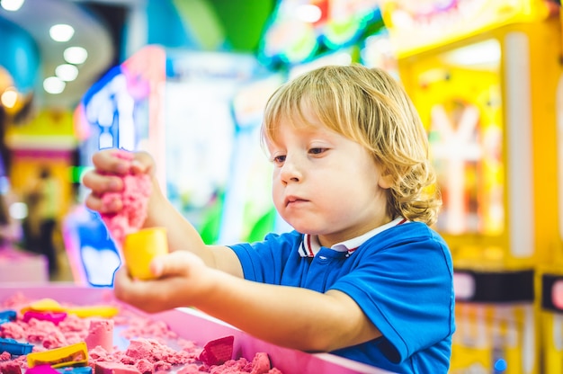
[(307, 106), (304, 114), (308, 124), (284, 120), (268, 142), (281, 217), (325, 246), (389, 222), (389, 177), (360, 144), (326, 128)]

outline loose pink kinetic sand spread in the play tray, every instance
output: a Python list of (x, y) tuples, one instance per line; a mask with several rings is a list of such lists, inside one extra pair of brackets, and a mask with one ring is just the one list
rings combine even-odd
[[(232, 359), (232, 335), (212, 340), (201, 348), (179, 337), (164, 322), (115, 301), (112, 305), (118, 307), (119, 314), (112, 318), (69, 314), (58, 325), (36, 318), (24, 321), (22, 309), (36, 301), (21, 294), (4, 300), (0, 310), (9, 308), (18, 313), (14, 321), (0, 325), (0, 337), (33, 343), (32, 352), (85, 342), (88, 366), (94, 374), (281, 374), (271, 367), (264, 352), (256, 353), (252, 361), (243, 357)], [(0, 352), (0, 374), (22, 372), (33, 374), (25, 355)]]

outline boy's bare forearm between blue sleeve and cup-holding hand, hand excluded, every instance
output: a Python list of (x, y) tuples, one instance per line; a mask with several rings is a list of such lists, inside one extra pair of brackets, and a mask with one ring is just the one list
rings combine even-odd
[(201, 310), (265, 341), (302, 351), (331, 352), (381, 335), (341, 291), (323, 294), (225, 278), (201, 301)]

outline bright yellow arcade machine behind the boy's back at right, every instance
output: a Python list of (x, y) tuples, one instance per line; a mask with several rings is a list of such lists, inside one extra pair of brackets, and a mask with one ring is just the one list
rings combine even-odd
[[(559, 18), (541, 0), (384, 1), (428, 130), (451, 248), (451, 372), (537, 373), (534, 271), (557, 232)], [(551, 372), (551, 371), (550, 371)]]

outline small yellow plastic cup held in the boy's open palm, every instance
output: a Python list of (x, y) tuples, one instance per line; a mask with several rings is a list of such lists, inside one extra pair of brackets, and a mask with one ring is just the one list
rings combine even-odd
[(156, 255), (168, 253), (168, 240), (165, 227), (143, 228), (128, 234), (123, 241), (125, 265), (133, 278), (150, 280), (155, 278), (150, 272), (150, 262)]

